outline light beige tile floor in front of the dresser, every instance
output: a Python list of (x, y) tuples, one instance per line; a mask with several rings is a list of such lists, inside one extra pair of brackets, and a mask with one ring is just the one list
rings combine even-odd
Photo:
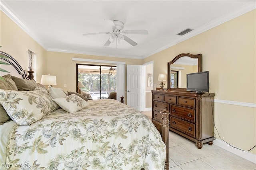
[[(143, 112), (151, 118), (151, 111)], [(216, 145), (195, 143), (169, 132), (170, 170), (256, 170), (256, 164)]]

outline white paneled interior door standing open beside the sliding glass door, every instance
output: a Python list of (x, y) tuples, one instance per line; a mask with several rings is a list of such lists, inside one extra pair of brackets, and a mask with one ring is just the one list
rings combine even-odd
[(127, 64), (127, 105), (144, 111), (144, 66)]

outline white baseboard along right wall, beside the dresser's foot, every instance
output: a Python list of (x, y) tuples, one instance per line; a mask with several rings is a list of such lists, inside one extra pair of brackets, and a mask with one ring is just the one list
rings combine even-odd
[(214, 140), (214, 145), (221, 147), (229, 152), (232, 152), (244, 159), (247, 159), (251, 162), (253, 162), (254, 164), (256, 164), (256, 154), (253, 154), (251, 152), (245, 152), (239, 149), (236, 149), (234, 147), (231, 147), (230, 145), (228, 145), (226, 142), (220, 140), (220, 139), (215, 139)]

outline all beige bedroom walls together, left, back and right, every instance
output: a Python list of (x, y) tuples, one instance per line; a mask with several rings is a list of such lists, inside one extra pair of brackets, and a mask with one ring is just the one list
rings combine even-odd
[[(26, 69), (28, 48), (36, 52), (37, 82), (42, 74), (57, 76), (57, 86), (76, 90), (76, 62), (72, 57), (125, 61), (143, 64), (154, 61), (154, 75), (167, 74), (167, 63), (180, 53), (202, 53), (203, 71), (209, 71), (210, 92), (216, 100), (256, 103), (256, 10), (234, 18), (200, 35), (165, 49), (143, 60), (121, 59), (46, 51), (3, 12), (0, 16), (0, 45)], [(3, 26), (4, 25), (4, 26)], [(126, 80), (126, 77), (125, 77)], [(166, 83), (166, 82), (164, 82)], [(126, 82), (125, 82), (126, 84)], [(154, 76), (154, 84), (159, 84)], [(167, 83), (166, 83), (167, 86)], [(215, 125), (222, 139), (240, 149), (256, 143), (256, 108), (214, 103)], [(215, 134), (218, 134), (215, 130)], [(256, 149), (250, 152), (256, 154)]]

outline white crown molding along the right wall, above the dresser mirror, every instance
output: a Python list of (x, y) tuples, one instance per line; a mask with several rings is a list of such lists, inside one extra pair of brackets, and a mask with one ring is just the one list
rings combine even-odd
[[(206, 24), (202, 27), (199, 27), (198, 29), (194, 29), (194, 30), (190, 31), (190, 33), (185, 34), (184, 36), (182, 36), (180, 39), (172, 41), (172, 42), (168, 43), (167, 45), (152, 51), (151, 53), (143, 55), (142, 59), (145, 59), (147, 57), (150, 57), (151, 55), (159, 53), (160, 51), (163, 51), (163, 50), (165, 50), (169, 47), (172, 47), (172, 46), (174, 46), (178, 43), (181, 43), (182, 41), (185, 41), (185, 40), (187, 40), (191, 37), (194, 37), (194, 36), (196, 36), (200, 33), (203, 33), (204, 31), (207, 31), (207, 30), (209, 30), (213, 27), (216, 27), (216, 26), (218, 26), (222, 23), (225, 23), (229, 20), (232, 20), (232, 19), (234, 19), (238, 16), (241, 16), (242, 14), (245, 14), (247, 12), (250, 12), (251, 10), (254, 10), (254, 9), (256, 9), (256, 1), (250, 1), (247, 4), (245, 4), (244, 6), (242, 6), (239, 10), (236, 10), (235, 12), (232, 12), (230, 14), (222, 16), (221, 18), (218, 18), (218, 19), (216, 19), (216, 20), (214, 20), (214, 21), (212, 21), (212, 22), (210, 22), (210, 23), (208, 23), (208, 24)], [(180, 36), (180, 35), (177, 35), (177, 36)]]

